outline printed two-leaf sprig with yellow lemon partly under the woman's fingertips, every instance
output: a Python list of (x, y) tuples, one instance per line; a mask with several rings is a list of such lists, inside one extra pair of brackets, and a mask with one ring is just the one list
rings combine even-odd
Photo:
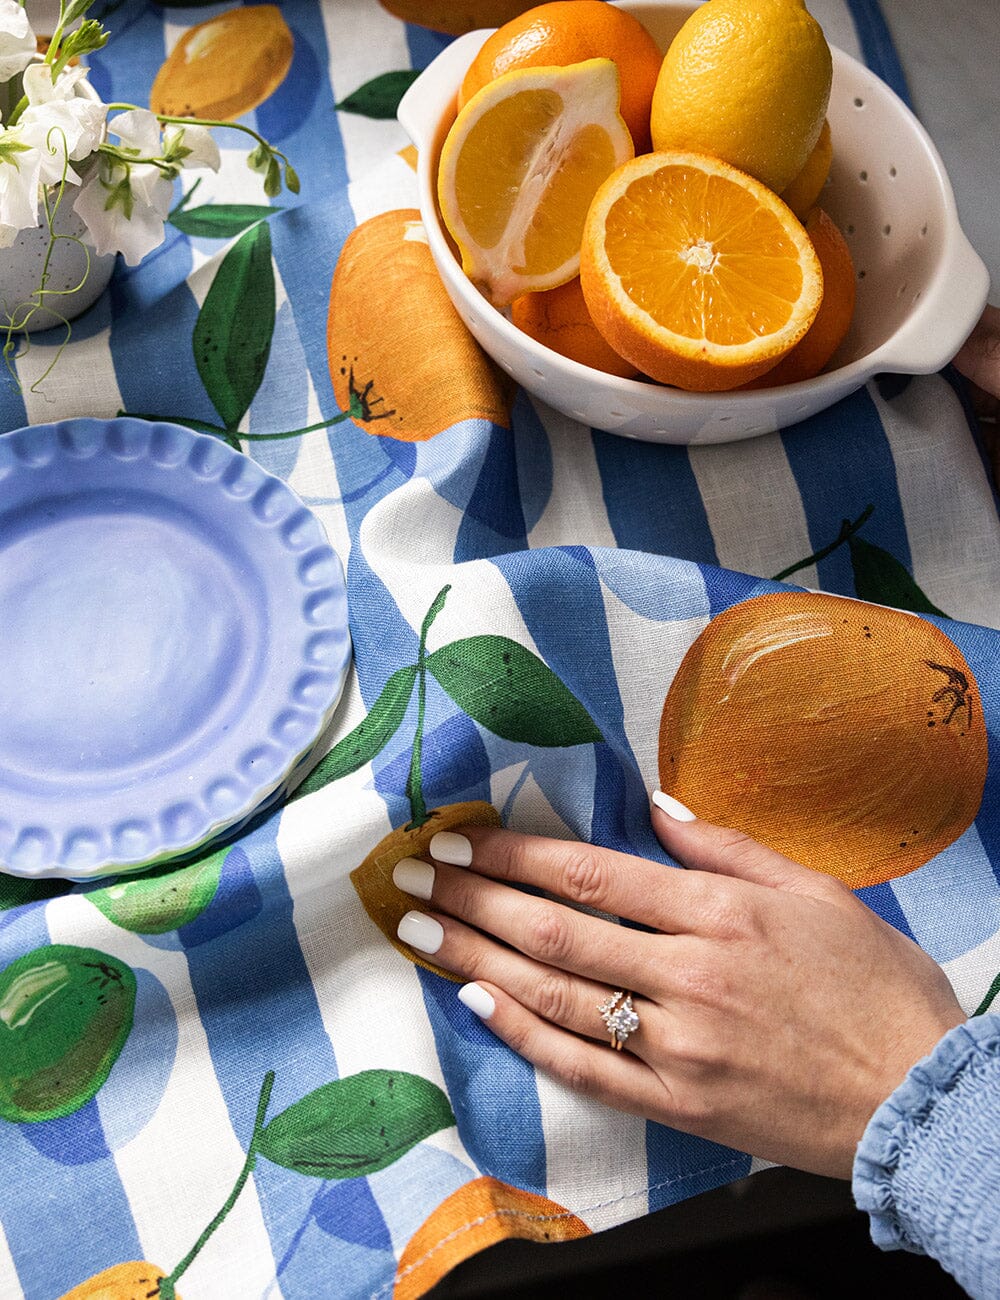
[(473, 722), (495, 736), (524, 745), (562, 748), (599, 741), (584, 706), (542, 660), (510, 637), (475, 636), (451, 641), (428, 653), (427, 638), (445, 606), (450, 586), (434, 597), (420, 628), (417, 662), (398, 668), (386, 681), (368, 716), (338, 741), (306, 777), (293, 798), (300, 798), (356, 772), (381, 753), (397, 733), (416, 689), (416, 731), (406, 793), (411, 820), (382, 838), (351, 872), (351, 883), (364, 909), (389, 942), (411, 962), (455, 980), (456, 975), (406, 948), (397, 927), (412, 900), (393, 884), (401, 858), (424, 857), (437, 831), (447, 827), (499, 826), (499, 815), (480, 801), (453, 803), (428, 811), (423, 789), (423, 742), (428, 676)]

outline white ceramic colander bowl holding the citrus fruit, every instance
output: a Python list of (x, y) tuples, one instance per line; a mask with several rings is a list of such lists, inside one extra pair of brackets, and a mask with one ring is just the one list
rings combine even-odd
[[(622, 4), (662, 48), (691, 6)], [(827, 117), (834, 165), (821, 204), (840, 226), (858, 277), (857, 306), (831, 367), (814, 380), (750, 393), (684, 393), (619, 380), (536, 343), (463, 274), (437, 209), (441, 143), (455, 94), (488, 32), (449, 46), (399, 105), (419, 151), (420, 212), (430, 252), (459, 315), (521, 387), (564, 415), (649, 442), (735, 442), (815, 415), (874, 374), (927, 374), (965, 341), (986, 303), (990, 276), (966, 239), (944, 165), (930, 136), (874, 73), (834, 49)]]

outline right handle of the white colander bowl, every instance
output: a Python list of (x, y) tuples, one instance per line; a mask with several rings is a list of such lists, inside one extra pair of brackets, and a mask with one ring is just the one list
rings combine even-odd
[(934, 280), (909, 320), (879, 348), (878, 369), (932, 374), (954, 356), (979, 320), (990, 272), (953, 220)]

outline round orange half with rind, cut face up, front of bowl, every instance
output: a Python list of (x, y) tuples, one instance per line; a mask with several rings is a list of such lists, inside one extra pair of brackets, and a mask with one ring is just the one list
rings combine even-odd
[(646, 153), (601, 186), (580, 283), (611, 347), (662, 384), (732, 389), (809, 329), (823, 273), (771, 190), (704, 153)]

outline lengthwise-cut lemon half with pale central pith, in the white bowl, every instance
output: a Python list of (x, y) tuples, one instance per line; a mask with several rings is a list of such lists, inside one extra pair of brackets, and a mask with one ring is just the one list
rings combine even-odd
[(495, 306), (580, 268), (590, 199), (632, 156), (610, 58), (505, 73), (472, 96), (441, 150), (438, 204), (462, 266)]

